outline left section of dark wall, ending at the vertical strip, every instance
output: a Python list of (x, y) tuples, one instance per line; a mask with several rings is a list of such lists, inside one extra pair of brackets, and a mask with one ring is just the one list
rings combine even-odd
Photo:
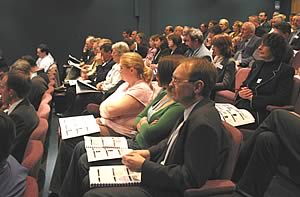
[(62, 64), (68, 53), (80, 56), (86, 35), (116, 41), (137, 25), (134, 0), (1, 0), (0, 13), (0, 48), (9, 63), (46, 43)]

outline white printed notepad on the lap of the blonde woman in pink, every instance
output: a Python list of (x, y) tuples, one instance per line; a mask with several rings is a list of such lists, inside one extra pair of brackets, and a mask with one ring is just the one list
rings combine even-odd
[(100, 132), (93, 115), (59, 118), (58, 121), (63, 140)]

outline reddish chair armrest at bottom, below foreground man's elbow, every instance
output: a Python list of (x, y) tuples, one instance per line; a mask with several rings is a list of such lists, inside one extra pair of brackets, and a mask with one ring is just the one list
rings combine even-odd
[(184, 191), (184, 197), (201, 197), (222, 194), (232, 194), (235, 184), (230, 180), (209, 180), (200, 188), (191, 188)]

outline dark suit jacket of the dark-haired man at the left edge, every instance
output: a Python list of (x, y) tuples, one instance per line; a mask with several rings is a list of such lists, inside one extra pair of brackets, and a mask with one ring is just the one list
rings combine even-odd
[(39, 118), (27, 98), (17, 105), (9, 117), (16, 125), (16, 138), (12, 145), (11, 154), (21, 163), (29, 137), (37, 127)]

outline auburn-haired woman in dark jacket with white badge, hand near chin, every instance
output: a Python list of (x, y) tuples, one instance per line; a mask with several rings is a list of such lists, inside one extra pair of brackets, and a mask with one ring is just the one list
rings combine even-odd
[(218, 70), (217, 83), (213, 89), (212, 97), (216, 91), (232, 90), (235, 80), (235, 61), (232, 58), (231, 39), (226, 34), (213, 37), (213, 64)]

